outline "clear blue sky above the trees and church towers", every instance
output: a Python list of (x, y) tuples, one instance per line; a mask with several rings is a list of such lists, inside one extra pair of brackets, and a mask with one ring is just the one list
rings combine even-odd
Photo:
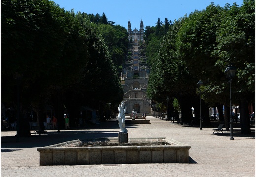
[(226, 3), (233, 5), (236, 2), (239, 6), (243, 0), (53, 0), (61, 8), (66, 10), (74, 9), (87, 14), (103, 12), (108, 20), (114, 21), (115, 25), (121, 25), (127, 29), (128, 20), (131, 28), (138, 28), (140, 20), (146, 26), (155, 26), (158, 18), (164, 22), (165, 18), (170, 21), (179, 19), (185, 14), (189, 16), (195, 10), (203, 10), (211, 2), (224, 7)]

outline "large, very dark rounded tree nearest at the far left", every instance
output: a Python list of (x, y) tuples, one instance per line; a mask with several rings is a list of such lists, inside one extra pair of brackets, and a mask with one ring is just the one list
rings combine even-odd
[(74, 13), (52, 1), (4, 0), (1, 5), (1, 83), (6, 93), (2, 102), (11, 106), (13, 75), (22, 75), (21, 105), (23, 109), (32, 106), (43, 128), (40, 112), (55, 86), (73, 83), (87, 61), (84, 33)]

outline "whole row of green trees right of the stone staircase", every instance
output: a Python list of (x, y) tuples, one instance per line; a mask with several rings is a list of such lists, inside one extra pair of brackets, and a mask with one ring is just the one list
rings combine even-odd
[[(241, 133), (249, 134), (248, 105), (255, 103), (254, 0), (244, 0), (241, 7), (234, 3), (222, 8), (211, 3), (205, 10), (175, 20), (151, 61), (148, 96), (165, 104), (167, 96), (178, 99), (186, 122), (190, 122), (194, 107), (199, 122), (197, 82), (202, 80), (204, 125), (210, 125), (209, 107), (222, 110), (225, 105), (228, 129), (229, 83), (224, 71), (229, 65), (237, 68), (232, 80), (232, 103), (240, 108)], [(219, 114), (222, 120), (222, 111)]]

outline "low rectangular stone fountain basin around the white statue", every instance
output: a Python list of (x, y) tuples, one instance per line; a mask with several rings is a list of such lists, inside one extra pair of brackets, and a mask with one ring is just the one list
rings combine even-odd
[[(100, 140), (102, 139), (95, 139)], [(118, 142), (117, 138), (107, 140)], [(79, 147), (81, 141), (73, 140), (37, 148), (37, 151), (40, 153), (40, 165), (189, 163), (191, 146), (170, 138), (129, 138), (128, 143), (156, 140), (165, 141), (170, 145)]]

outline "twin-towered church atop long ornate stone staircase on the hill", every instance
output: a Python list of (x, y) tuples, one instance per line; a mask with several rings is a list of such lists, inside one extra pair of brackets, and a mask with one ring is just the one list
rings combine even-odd
[(123, 100), (127, 106), (126, 113), (131, 114), (135, 109), (139, 114), (151, 113), (151, 101), (147, 98), (147, 87), (150, 70), (146, 63), (145, 46), (143, 41), (143, 21), (140, 30), (131, 31), (128, 21), (129, 47), (126, 62), (122, 67), (121, 84), (124, 91)]

